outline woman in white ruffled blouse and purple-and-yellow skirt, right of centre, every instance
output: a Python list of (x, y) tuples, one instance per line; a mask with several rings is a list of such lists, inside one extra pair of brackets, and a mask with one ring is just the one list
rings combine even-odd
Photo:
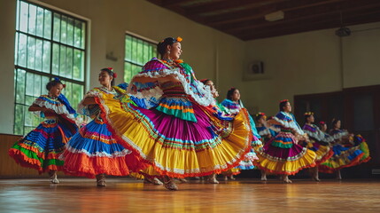
[(291, 103), (284, 99), (280, 101), (280, 112), (270, 124), (281, 126), (281, 131), (259, 148), (258, 161), (254, 164), (265, 172), (261, 179), (266, 180), (266, 172), (283, 175), (283, 182), (291, 183), (290, 175), (295, 175), (299, 170), (315, 166), (316, 154), (305, 147), (299, 146), (299, 139), (307, 140), (306, 134), (301, 130), (294, 115), (291, 114)]

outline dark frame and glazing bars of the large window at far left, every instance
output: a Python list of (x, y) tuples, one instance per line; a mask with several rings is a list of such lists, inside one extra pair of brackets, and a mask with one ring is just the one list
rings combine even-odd
[[(21, 21), (22, 21), (22, 14), (21, 14), (21, 4), (27, 4), (27, 27), (26, 27), (26, 30), (23, 30), (22, 28), (20, 28), (21, 26)], [(34, 6), (36, 7), (35, 8), (35, 20), (32, 20), (35, 22), (35, 32), (30, 32), (30, 23), (29, 21), (31, 20), (30, 19), (30, 12), (31, 12), (31, 9), (30, 9), (30, 6)], [(41, 36), (41, 31), (40, 31), (40, 35), (38, 35), (38, 32), (37, 32), (37, 28), (39, 28), (37, 26), (37, 23), (38, 23), (38, 12), (41, 12), (41, 10), (43, 10), (43, 21), (42, 21), (42, 24), (43, 24), (43, 27), (42, 27), (42, 36)], [(46, 11), (50, 12), (50, 23), (48, 21), (45, 21), (45, 18), (46, 18)], [(58, 14), (59, 15), (59, 38), (56, 39), (56, 37), (54, 37), (54, 17), (55, 17), (55, 14)], [(62, 19), (62, 17), (64, 16), (64, 18), (66, 19), (66, 22), (64, 24), (66, 24), (66, 42), (63, 42), (61, 40), (61, 30), (63, 28), (62, 26), (62, 23), (65, 21)], [(72, 26), (73, 26), (73, 33), (72, 33), (72, 43), (69, 44), (67, 42), (67, 30), (69, 27), (69, 24), (67, 24), (69, 22), (69, 20), (73, 21), (72, 22)], [(81, 32), (80, 32), (80, 37), (79, 37), (79, 41), (80, 41), (80, 44), (79, 45), (76, 45), (75, 44), (75, 25), (76, 24), (79, 24), (81, 25)], [(41, 24), (41, 23), (40, 23)], [(45, 27), (47, 24), (50, 24), (50, 36), (45, 36)], [(14, 119), (14, 122), (13, 122), (13, 134), (26, 134), (27, 133), (27, 130), (26, 129), (32, 129), (32, 128), (35, 128), (35, 125), (27, 125), (27, 120), (26, 120), (26, 117), (27, 117), (27, 107), (29, 106), (26, 102), (27, 102), (27, 97), (33, 97), (33, 98), (36, 98), (35, 95), (36, 94), (33, 94), (33, 95), (27, 95), (27, 74), (31, 74), (31, 75), (38, 75), (37, 78), (39, 77), (40, 80), (41, 80), (41, 94), (39, 94), (38, 96), (44, 94), (46, 91), (45, 89), (45, 85), (43, 84), (43, 78), (48, 78), (49, 80), (52, 79), (53, 77), (59, 77), (59, 79), (64, 82), (64, 83), (73, 83), (73, 86), (71, 88), (71, 90), (75, 90), (74, 89), (74, 85), (75, 86), (80, 86), (82, 88), (82, 92), (81, 92), (81, 96), (84, 95), (87, 87), (88, 87), (88, 63), (89, 63), (89, 24), (90, 24), (90, 21), (86, 18), (83, 18), (81, 16), (78, 16), (78, 15), (75, 15), (74, 13), (72, 12), (66, 12), (64, 10), (61, 10), (57, 7), (54, 7), (54, 6), (51, 6), (50, 4), (44, 4), (42, 2), (36, 2), (36, 1), (27, 1), (27, 0), (17, 0), (16, 2), (16, 24), (15, 24), (15, 45), (14, 45), (14, 55), (15, 55), (15, 59), (13, 61), (13, 65), (14, 65), (14, 113), (13, 113), (13, 119)], [(40, 27), (41, 29), (41, 27)], [(21, 36), (26, 36), (26, 47), (25, 47), (25, 50), (26, 53), (25, 53), (25, 64), (24, 65), (20, 65), (19, 63), (19, 57), (20, 57), (20, 54), (19, 54), (19, 37)], [(32, 38), (32, 39), (35, 39), (34, 40), (34, 43), (35, 43), (35, 47), (37, 47), (37, 42), (42, 42), (43, 44), (46, 42), (46, 43), (50, 43), (50, 49), (49, 49), (49, 54), (50, 56), (48, 55), (47, 58), (49, 58), (49, 71), (46, 72), (46, 70), (44, 70), (44, 67), (43, 67), (43, 54), (44, 54), (44, 47), (41, 47), (41, 68), (38, 68), (36, 67), (35, 63), (36, 63), (36, 56), (34, 56), (34, 68), (32, 67), (29, 67), (28, 65), (28, 48), (29, 48), (29, 45), (28, 45), (28, 42), (29, 42), (29, 39)], [(53, 46), (57, 44), (58, 45), (58, 73), (54, 74), (54, 71), (53, 71), (53, 56), (54, 56), (54, 49), (53, 49)], [(68, 51), (71, 51), (72, 52), (72, 59), (69, 59), (71, 60), (71, 73), (69, 74), (70, 76), (63, 76), (63, 75), (66, 75), (66, 74), (63, 74), (61, 73), (62, 71), (60, 70), (60, 66), (62, 65), (60, 60), (62, 58), (62, 51), (61, 51), (61, 48), (62, 47), (65, 47), (65, 50), (66, 52), (64, 53), (65, 54), (65, 63), (64, 65), (67, 66), (67, 64), (69, 64), (67, 62), (67, 50)], [(38, 47), (37, 47), (38, 48)], [(37, 52), (37, 48), (35, 48), (34, 50), (34, 54), (36, 54)], [(68, 49), (66, 49), (68, 48)], [(81, 57), (80, 57), (80, 62), (77, 64), (78, 66), (80, 66), (80, 73), (79, 73), (79, 77), (75, 77), (74, 76), (74, 67), (75, 67), (75, 52), (80, 52), (81, 53)], [(23, 67), (25, 66), (25, 67)], [(65, 68), (67, 69), (67, 68)], [(18, 100), (18, 87), (19, 87), (19, 83), (17, 82), (18, 81), (18, 77), (19, 77), (19, 74), (20, 72), (25, 72), (25, 74), (22, 74), (22, 75), (25, 75), (25, 80), (24, 80), (24, 91), (23, 91), (23, 98), (24, 99), (22, 102), (23, 103), (19, 103), (19, 100)], [(33, 77), (35, 79), (35, 76)], [(21, 87), (22, 89), (22, 87)], [(34, 87), (35, 89), (35, 87)], [(64, 92), (65, 93), (65, 92)], [(67, 97), (68, 98), (68, 97)], [(75, 102), (79, 102), (80, 100), (77, 100)], [(22, 112), (22, 119), (20, 121), (20, 123), (17, 122), (17, 108), (18, 107), (21, 107), (21, 112)], [(41, 122), (42, 119), (39, 119), (39, 122)], [(22, 125), (22, 127), (20, 128), (19, 125)], [(19, 130), (17, 130), (19, 128)], [(18, 132), (19, 131), (19, 132)]]

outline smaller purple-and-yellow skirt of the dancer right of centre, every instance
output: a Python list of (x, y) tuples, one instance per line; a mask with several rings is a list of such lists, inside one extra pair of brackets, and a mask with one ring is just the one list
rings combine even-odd
[(315, 166), (314, 151), (299, 146), (290, 130), (280, 131), (256, 154), (259, 160), (254, 162), (255, 166), (273, 174), (294, 175), (299, 170)]

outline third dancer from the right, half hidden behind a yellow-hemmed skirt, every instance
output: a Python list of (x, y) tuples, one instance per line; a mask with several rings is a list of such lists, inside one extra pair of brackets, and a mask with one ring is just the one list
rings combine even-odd
[(320, 181), (318, 175), (318, 166), (322, 162), (326, 162), (334, 154), (330, 148), (330, 142), (334, 141), (332, 137), (326, 137), (325, 133), (320, 130), (316, 125), (314, 125), (314, 113), (306, 112), (305, 116), (305, 125), (302, 128), (309, 137), (308, 141), (304, 141), (303, 146), (313, 150), (316, 154), (315, 164), (316, 166), (310, 168), (312, 176), (315, 181)]

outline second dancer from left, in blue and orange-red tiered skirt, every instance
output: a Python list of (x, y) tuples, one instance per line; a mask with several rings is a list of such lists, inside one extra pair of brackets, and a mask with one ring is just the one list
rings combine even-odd
[(83, 126), (66, 144), (62, 154), (64, 171), (73, 176), (97, 178), (97, 186), (105, 186), (105, 175), (128, 176), (138, 162), (135, 154), (116, 141), (107, 130), (101, 114), (106, 114), (98, 105), (103, 99), (114, 99), (125, 93), (115, 87), (116, 74), (112, 67), (101, 69), (98, 77), (101, 87), (87, 92), (79, 104), (79, 112), (93, 120)]

